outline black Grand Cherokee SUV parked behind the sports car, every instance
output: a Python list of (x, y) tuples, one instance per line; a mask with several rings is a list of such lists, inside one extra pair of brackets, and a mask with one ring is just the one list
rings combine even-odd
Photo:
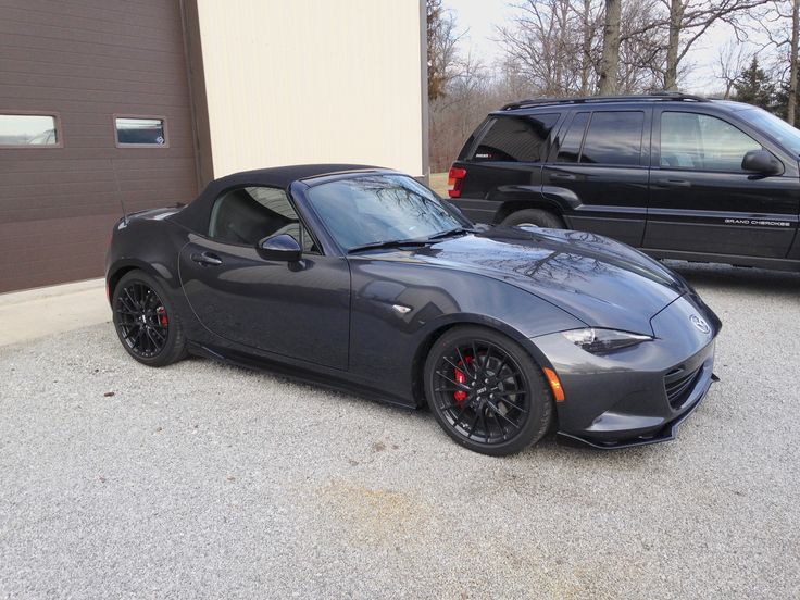
[(800, 130), (683, 93), (525, 100), (450, 170), (473, 221), (568, 227), (657, 258), (800, 271)]

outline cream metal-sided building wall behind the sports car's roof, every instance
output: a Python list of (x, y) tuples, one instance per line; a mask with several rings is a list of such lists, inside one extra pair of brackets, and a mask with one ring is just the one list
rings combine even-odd
[(198, 0), (214, 176), (351, 162), (426, 175), (418, 0)]

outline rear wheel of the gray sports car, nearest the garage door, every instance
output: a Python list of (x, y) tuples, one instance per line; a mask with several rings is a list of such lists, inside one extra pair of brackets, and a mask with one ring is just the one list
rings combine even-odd
[(186, 336), (170, 295), (143, 271), (126, 273), (114, 287), (114, 329), (128, 354), (148, 366), (166, 366), (187, 355)]

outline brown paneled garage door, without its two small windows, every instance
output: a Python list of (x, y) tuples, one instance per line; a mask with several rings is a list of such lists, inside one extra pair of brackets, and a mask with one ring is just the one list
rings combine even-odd
[[(102, 274), (120, 200), (188, 201), (197, 175), (177, 0), (0, 0), (0, 113), (54, 112), (63, 148), (0, 149), (0, 292)], [(115, 148), (113, 114), (168, 148)]]

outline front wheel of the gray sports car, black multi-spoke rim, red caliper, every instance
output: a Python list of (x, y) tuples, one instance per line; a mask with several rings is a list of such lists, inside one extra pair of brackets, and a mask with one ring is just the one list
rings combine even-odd
[(552, 421), (552, 395), (534, 359), (485, 327), (454, 327), (436, 340), (425, 361), (425, 396), (441, 428), (483, 454), (520, 452)]

